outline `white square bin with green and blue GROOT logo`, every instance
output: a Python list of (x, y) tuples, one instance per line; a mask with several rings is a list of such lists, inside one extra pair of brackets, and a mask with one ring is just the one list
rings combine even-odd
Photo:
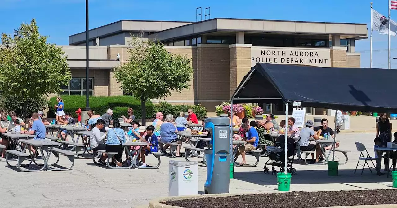
[(170, 160), (168, 163), (168, 196), (198, 194), (197, 161)]

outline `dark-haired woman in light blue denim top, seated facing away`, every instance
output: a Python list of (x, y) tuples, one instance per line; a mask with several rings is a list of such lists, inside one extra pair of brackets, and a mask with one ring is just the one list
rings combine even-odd
[(118, 153), (113, 156), (112, 164), (116, 163), (117, 166), (123, 166), (121, 163), (121, 156), (123, 152), (123, 143), (125, 143), (125, 132), (120, 128), (120, 122), (118, 119), (113, 120), (113, 128), (108, 131), (106, 141), (106, 152)]

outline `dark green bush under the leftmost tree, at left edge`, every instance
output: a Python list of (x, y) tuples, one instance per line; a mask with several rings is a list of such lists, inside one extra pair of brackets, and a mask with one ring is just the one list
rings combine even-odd
[[(48, 100), (42, 96), (37, 99), (29, 99), (27, 102), (26, 116), (27, 118), (32, 116), (32, 113), (37, 111), (44, 111), (48, 107)], [(22, 118), (23, 114), (23, 101), (19, 96), (5, 96), (0, 100), (0, 109), (4, 109), (10, 113), (15, 111), (19, 117)]]

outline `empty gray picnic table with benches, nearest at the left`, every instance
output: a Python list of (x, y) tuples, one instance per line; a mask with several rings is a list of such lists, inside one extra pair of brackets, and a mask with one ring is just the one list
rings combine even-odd
[[(26, 156), (29, 156), (26, 153), (17, 151), (17, 150), (6, 150), (6, 152), (8, 154), (12, 154), (12, 155), (17, 155), (18, 156), (18, 162), (17, 165), (11, 165), (9, 163), (10, 160), (8, 160), (8, 156), (6, 157), (6, 162), (9, 166), (11, 167), (17, 167), (19, 170), (23, 171), (23, 172), (36, 172), (36, 171), (41, 171), (44, 170), (44, 168), (47, 168), (48, 170), (70, 170), (73, 165), (74, 165), (74, 161), (71, 160), (72, 162), (72, 166), (69, 168), (64, 168), (64, 169), (54, 169), (54, 168), (50, 168), (50, 166), (56, 165), (59, 162), (59, 155), (57, 155), (56, 153), (64, 153), (64, 150), (58, 149), (59, 151), (56, 151), (56, 149), (54, 149), (54, 147), (58, 147), (60, 146), (60, 143), (58, 142), (54, 142), (54, 141), (50, 141), (50, 140), (46, 140), (46, 139), (22, 139), (19, 140), (20, 143), (24, 143), (25, 145), (28, 146), (28, 148), (26, 148), (29, 151), (29, 155), (31, 156), (31, 160), (29, 162), (29, 164), (22, 164), (22, 162), (26, 159)], [(39, 151), (42, 155), (42, 160), (44, 164), (38, 164), (34, 154), (30, 151), (29, 146), (33, 147), (36, 151)], [(58, 157), (58, 160), (53, 163), (53, 164), (49, 164), (48, 160), (51, 156), (52, 152), (56, 152), (54, 153), (54, 155), (56, 157)], [(44, 154), (45, 152), (45, 154)], [(37, 166), (41, 166), (40, 169), (27, 169), (27, 168), (22, 168), (23, 166), (29, 166), (31, 165), (31, 163), (34, 162)]]

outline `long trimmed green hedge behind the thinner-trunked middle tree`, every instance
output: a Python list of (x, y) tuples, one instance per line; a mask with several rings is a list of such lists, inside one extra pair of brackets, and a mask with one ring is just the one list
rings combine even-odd
[[(77, 117), (75, 111), (77, 109), (85, 108), (85, 96), (80, 95), (62, 95), (64, 100), (65, 112), (71, 112), (73, 117)], [(58, 104), (56, 97), (50, 99), (50, 109), (47, 117), (55, 116), (54, 105)], [(135, 99), (133, 96), (90, 96), (90, 108), (95, 111), (95, 114), (102, 115), (111, 108), (113, 109), (113, 118), (120, 118), (121, 115), (127, 116), (127, 109), (132, 108), (134, 110), (135, 118), (142, 118), (141, 101)], [(153, 103), (150, 101), (146, 102), (146, 117), (150, 118), (153, 115)]]

